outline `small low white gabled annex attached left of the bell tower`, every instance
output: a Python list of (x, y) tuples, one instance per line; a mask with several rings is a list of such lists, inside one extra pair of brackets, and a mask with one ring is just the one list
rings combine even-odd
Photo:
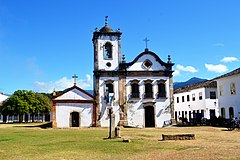
[(94, 98), (74, 84), (53, 98), (53, 128), (94, 126)]

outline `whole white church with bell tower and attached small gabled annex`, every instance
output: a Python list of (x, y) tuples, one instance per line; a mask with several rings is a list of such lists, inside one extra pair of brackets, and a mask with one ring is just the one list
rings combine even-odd
[[(94, 96), (74, 85), (54, 99), (53, 127), (108, 127), (109, 108), (115, 126), (163, 127), (171, 124), (173, 63), (147, 47), (131, 62), (121, 55), (120, 29), (108, 25), (93, 33)], [(147, 39), (146, 39), (147, 43)], [(77, 122), (76, 122), (77, 121)]]

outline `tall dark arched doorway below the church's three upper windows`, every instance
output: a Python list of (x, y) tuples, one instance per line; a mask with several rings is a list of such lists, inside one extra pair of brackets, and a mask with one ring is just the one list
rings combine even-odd
[(155, 127), (154, 107), (145, 107), (145, 127)]

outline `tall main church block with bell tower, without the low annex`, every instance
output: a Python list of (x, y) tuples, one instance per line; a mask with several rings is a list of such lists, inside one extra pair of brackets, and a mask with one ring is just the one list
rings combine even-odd
[[(109, 126), (110, 107), (115, 125), (141, 128), (169, 125), (174, 117), (171, 106), (174, 64), (170, 56), (168, 62), (163, 62), (146, 48), (127, 63), (121, 55), (121, 34), (120, 29), (113, 31), (107, 21), (93, 34), (96, 126)], [(108, 95), (113, 95), (110, 103)]]

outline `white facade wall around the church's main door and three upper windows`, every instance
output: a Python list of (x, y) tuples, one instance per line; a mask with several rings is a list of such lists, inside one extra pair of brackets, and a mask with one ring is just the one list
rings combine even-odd
[[(131, 84), (130, 81), (133, 79), (139, 80), (139, 92), (140, 98), (137, 100), (132, 100), (131, 95)], [(153, 80), (153, 99), (144, 99), (144, 80)], [(157, 80), (166, 80), (166, 98), (157, 99)], [(170, 113), (170, 100), (169, 100), (169, 79), (168, 77), (127, 77), (126, 78), (126, 90), (127, 90), (127, 118), (128, 125), (132, 127), (145, 127), (145, 112), (144, 104), (155, 103), (155, 127), (162, 127), (164, 122), (169, 122), (171, 120)]]

